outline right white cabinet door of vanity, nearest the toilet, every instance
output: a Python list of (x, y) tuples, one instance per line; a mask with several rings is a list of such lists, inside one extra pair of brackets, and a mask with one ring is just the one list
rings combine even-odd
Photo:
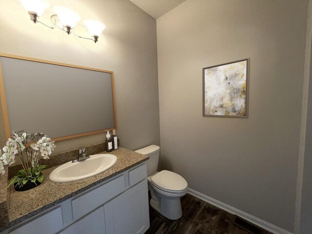
[(147, 179), (104, 205), (106, 234), (144, 234), (150, 227)]

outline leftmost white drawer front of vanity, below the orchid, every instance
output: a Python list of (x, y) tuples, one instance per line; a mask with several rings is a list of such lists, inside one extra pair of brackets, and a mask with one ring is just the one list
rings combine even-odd
[(62, 208), (58, 207), (35, 218), (10, 234), (44, 233), (55, 234), (63, 228)]

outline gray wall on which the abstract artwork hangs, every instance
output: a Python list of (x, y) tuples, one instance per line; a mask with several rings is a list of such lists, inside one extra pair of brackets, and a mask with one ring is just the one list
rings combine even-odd
[[(187, 0), (157, 19), (161, 167), (293, 231), (307, 0)], [(202, 117), (202, 68), (250, 58), (249, 117)]]

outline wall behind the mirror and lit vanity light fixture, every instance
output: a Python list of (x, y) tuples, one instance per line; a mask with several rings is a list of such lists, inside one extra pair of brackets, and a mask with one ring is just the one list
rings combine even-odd
[[(121, 146), (159, 144), (156, 20), (129, 0), (49, 0), (82, 19), (106, 25), (98, 43), (34, 24), (19, 0), (0, 0), (0, 52), (114, 71), (117, 135)], [(41, 20), (50, 22), (47, 10)], [(89, 36), (83, 23), (76, 33)], [(0, 145), (5, 143), (0, 113)], [(55, 153), (105, 141), (93, 135), (57, 142)]]

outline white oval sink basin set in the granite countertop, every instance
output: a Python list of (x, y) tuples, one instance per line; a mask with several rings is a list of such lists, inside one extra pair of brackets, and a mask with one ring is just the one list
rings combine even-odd
[(66, 162), (51, 172), (49, 179), (53, 182), (63, 183), (88, 178), (114, 166), (117, 161), (115, 155), (91, 155), (90, 158), (80, 162)]

